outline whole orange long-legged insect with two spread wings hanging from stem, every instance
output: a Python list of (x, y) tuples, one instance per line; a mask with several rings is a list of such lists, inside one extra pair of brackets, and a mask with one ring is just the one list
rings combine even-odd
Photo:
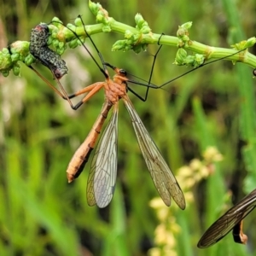
[[(73, 32), (73, 30), (69, 30)], [(84, 31), (86, 32), (85, 26)], [(79, 39), (75, 32), (73, 32), (73, 34), (75, 37)], [(87, 37), (90, 38), (88, 34)], [(113, 67), (112, 65), (105, 63), (105, 61), (102, 58), (102, 55), (96, 48), (96, 45), (94, 44), (91, 38), (90, 41), (94, 45), (102, 61), (103, 68), (100, 67), (100, 65), (96, 62), (95, 58), (90, 54), (90, 51), (83, 44), (84, 49), (86, 49), (89, 52), (92, 59), (96, 62), (97, 67), (99, 67), (101, 72), (104, 74), (105, 81), (90, 84), (89, 86), (86, 86), (84, 89), (79, 90), (71, 96), (68, 96), (68, 99), (71, 99), (75, 96), (86, 94), (84, 98), (76, 106), (73, 107), (74, 109), (77, 109), (84, 102), (87, 102), (91, 96), (95, 95), (98, 90), (101, 90), (103, 88), (105, 91), (105, 102), (103, 104), (102, 111), (96, 119), (96, 122), (93, 125), (88, 137), (85, 138), (84, 143), (82, 143), (78, 150), (75, 152), (72, 160), (70, 161), (67, 167), (68, 182), (72, 182), (74, 178), (79, 177), (80, 172), (83, 171), (84, 166), (90, 157), (90, 153), (92, 149), (95, 147), (96, 139), (102, 130), (102, 125), (105, 119), (107, 119), (108, 112), (111, 108), (113, 108), (112, 116), (108, 122), (107, 127), (105, 128), (105, 131), (102, 134), (100, 142), (97, 144), (95, 154), (91, 161), (90, 174), (87, 184), (87, 201), (90, 206), (96, 204), (98, 207), (107, 207), (109, 202), (112, 200), (116, 183), (118, 160), (117, 125), (119, 100), (122, 99), (125, 103), (125, 108), (127, 109), (130, 115), (131, 123), (135, 130), (139, 147), (143, 153), (146, 165), (148, 166), (148, 171), (151, 174), (151, 177), (154, 181), (154, 185), (158, 190), (162, 200), (166, 203), (166, 206), (170, 206), (172, 197), (173, 200), (176, 201), (178, 207), (184, 209), (185, 199), (183, 196), (182, 189), (179, 187), (176, 178), (174, 177), (170, 168), (167, 166), (166, 161), (160, 154), (159, 149), (155, 145), (152, 138), (149, 136), (148, 131), (143, 125), (142, 120), (139, 118), (135, 108), (131, 103), (129, 96), (127, 95), (127, 90), (131, 90), (128, 87), (127, 82), (136, 82), (131, 81), (127, 78), (127, 73), (125, 72), (125, 70)], [(50, 65), (45, 66), (49, 67), (52, 73), (55, 74)], [(113, 79), (110, 79), (107, 67), (113, 69), (115, 73)], [(147, 86), (148, 88), (156, 87), (156, 85), (150, 84), (150, 80), (148, 84), (140, 84)], [(131, 91), (133, 92), (133, 90)], [(62, 97), (66, 98), (66, 95), (67, 94), (63, 93)]]

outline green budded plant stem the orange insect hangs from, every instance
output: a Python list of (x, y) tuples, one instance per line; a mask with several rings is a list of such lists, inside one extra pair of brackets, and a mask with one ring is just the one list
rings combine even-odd
[[(198, 67), (206, 60), (225, 58), (229, 61), (240, 61), (256, 68), (255, 55), (248, 53), (247, 50), (236, 54), (237, 49), (246, 49), (247, 47), (253, 46), (256, 42), (255, 38), (249, 38), (247, 41), (236, 44), (236, 49), (212, 47), (192, 41), (189, 38), (189, 28), (192, 26), (192, 22), (187, 22), (179, 26), (177, 37), (173, 37), (151, 32), (148, 22), (143, 20), (142, 15), (137, 14), (135, 16), (137, 26), (133, 27), (109, 17), (108, 12), (102, 9), (99, 3), (89, 1), (89, 7), (91, 12), (96, 15), (96, 21), (101, 23), (85, 26), (86, 32), (84, 31), (83, 22), (80, 18), (74, 21), (75, 25), (68, 24), (67, 27), (63, 26), (58, 18), (54, 18), (49, 24), (51, 35), (49, 36), (48, 44), (53, 45), (57, 54), (61, 55), (67, 49), (67, 44), (69, 44), (70, 48), (77, 47), (88, 37), (87, 34), (118, 32), (123, 34), (125, 39), (119, 40), (113, 44), (112, 50), (125, 51), (133, 49), (138, 53), (141, 49), (146, 49), (148, 44), (164, 44), (178, 49), (175, 59), (177, 65)], [(75, 32), (76, 35), (73, 32)], [(181, 51), (180, 49), (183, 50)], [(192, 51), (193, 55), (187, 55), (187, 50)], [(27, 66), (36, 61), (29, 51), (29, 42), (16, 41), (9, 45), (9, 49), (5, 48), (0, 51), (0, 73), (3, 73), (4, 76), (8, 76), (9, 71), (13, 70), (15, 75), (19, 75), (19, 61), (24, 62)]]

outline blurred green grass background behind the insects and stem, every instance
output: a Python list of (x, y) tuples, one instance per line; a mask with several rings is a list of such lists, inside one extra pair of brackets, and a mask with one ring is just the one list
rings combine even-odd
[[(193, 21), (189, 37), (202, 44), (229, 48), (255, 35), (253, 0), (193, 4), (189, 0), (105, 0), (101, 4), (115, 20), (131, 26), (141, 13), (156, 33), (175, 36), (178, 25)], [(77, 15), (83, 15), (85, 24), (95, 23), (87, 1), (0, 0), (1, 49), (16, 40), (28, 41), (39, 22), (57, 16), (67, 24)], [(105, 61), (148, 79), (157, 47), (139, 55), (112, 52), (118, 39), (122, 36), (116, 33), (93, 36)], [(89, 48), (95, 53), (90, 44)], [(154, 84), (188, 70), (172, 65), (176, 50), (161, 49)], [(104, 79), (82, 48), (67, 50), (63, 59), (69, 73), (61, 82), (68, 92)], [(36, 68), (52, 79), (45, 67), (37, 64)], [(150, 206), (158, 195), (122, 102), (117, 189), (109, 207), (88, 207), (85, 190), (90, 163), (70, 184), (66, 168), (102, 108), (103, 92), (75, 112), (25, 65), (20, 78), (0, 77), (0, 255), (255, 255), (254, 212), (245, 221), (247, 246), (234, 243), (230, 234), (208, 249), (196, 247), (231, 202), (255, 187), (253, 83), (252, 68), (218, 61), (167, 84), (164, 90), (150, 90), (147, 102), (130, 94), (174, 173), (193, 159), (202, 160), (210, 146), (223, 156), (208, 166), (208, 171), (213, 170), (209, 177), (194, 180), (192, 175), (192, 185), (180, 183), (190, 196), (182, 211), (175, 203), (170, 208)], [(131, 87), (142, 95), (145, 91)]]

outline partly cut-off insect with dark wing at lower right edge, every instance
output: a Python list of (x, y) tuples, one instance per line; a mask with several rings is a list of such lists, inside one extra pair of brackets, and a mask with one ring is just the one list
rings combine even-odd
[(197, 247), (207, 248), (224, 238), (233, 230), (234, 241), (242, 244), (247, 243), (247, 236), (242, 233), (242, 219), (256, 207), (256, 189), (245, 196), (236, 206), (218, 218), (201, 237)]

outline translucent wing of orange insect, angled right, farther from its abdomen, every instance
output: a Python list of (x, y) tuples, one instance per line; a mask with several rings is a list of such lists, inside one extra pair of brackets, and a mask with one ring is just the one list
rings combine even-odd
[(137, 142), (148, 166), (148, 171), (154, 181), (155, 188), (158, 190), (162, 200), (166, 203), (166, 206), (169, 207), (171, 205), (172, 196), (178, 207), (184, 209), (186, 207), (186, 203), (183, 191), (180, 189), (176, 178), (167, 166), (166, 161), (163, 159), (154, 141), (149, 136), (142, 120), (139, 118), (137, 112), (132, 106), (129, 97), (126, 95), (123, 96), (123, 99), (137, 136)]

